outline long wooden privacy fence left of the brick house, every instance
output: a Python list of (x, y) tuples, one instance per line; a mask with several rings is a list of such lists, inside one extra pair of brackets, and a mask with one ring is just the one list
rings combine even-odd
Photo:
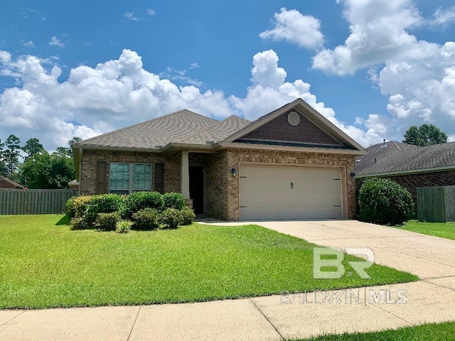
[(77, 190), (0, 190), (0, 215), (62, 213)]

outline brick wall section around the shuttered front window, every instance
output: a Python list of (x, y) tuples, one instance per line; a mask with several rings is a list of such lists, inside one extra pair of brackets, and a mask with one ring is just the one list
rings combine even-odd
[[(84, 149), (82, 152), (82, 172), (80, 178), (81, 195), (95, 194), (97, 161), (107, 161), (107, 178), (109, 178), (109, 162), (151, 163), (152, 180), (155, 179), (154, 164), (164, 163), (164, 192), (180, 192), (180, 155)], [(152, 190), (154, 190), (153, 184)]]

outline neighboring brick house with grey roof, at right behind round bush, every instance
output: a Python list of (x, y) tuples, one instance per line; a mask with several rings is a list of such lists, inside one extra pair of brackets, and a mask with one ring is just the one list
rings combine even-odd
[(417, 188), (455, 185), (455, 142), (418, 147), (397, 141), (367, 148), (355, 161), (355, 178), (380, 176), (410, 191), (417, 210)]

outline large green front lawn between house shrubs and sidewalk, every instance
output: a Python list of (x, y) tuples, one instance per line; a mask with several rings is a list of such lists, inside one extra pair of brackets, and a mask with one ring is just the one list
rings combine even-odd
[(0, 308), (210, 301), (418, 279), (379, 265), (368, 269), (371, 279), (314, 279), (313, 244), (256, 225), (116, 234), (65, 222), (0, 216)]

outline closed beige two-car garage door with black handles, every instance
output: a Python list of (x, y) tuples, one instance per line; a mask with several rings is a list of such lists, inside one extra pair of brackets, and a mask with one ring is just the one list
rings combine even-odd
[(240, 165), (240, 219), (343, 217), (341, 168)]

